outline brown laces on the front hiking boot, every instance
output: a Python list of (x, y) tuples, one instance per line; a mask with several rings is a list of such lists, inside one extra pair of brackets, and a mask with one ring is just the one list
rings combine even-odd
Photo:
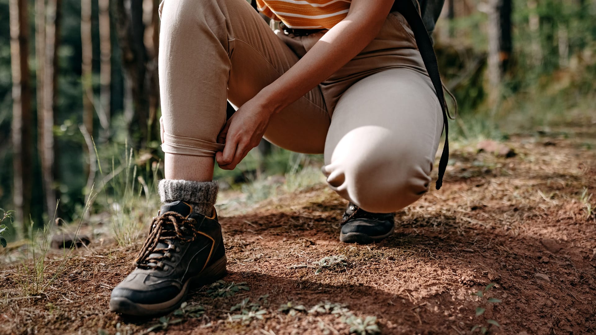
[(195, 219), (186, 219), (176, 212), (166, 212), (153, 218), (149, 236), (134, 260), (135, 265), (142, 269), (163, 269), (163, 260), (172, 259), (172, 252), (179, 251), (173, 241), (184, 244), (197, 237), (195, 224)]

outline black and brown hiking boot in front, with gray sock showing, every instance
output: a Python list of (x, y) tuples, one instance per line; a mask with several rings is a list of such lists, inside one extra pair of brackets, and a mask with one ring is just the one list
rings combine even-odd
[(162, 206), (135, 259), (136, 269), (114, 287), (110, 311), (166, 314), (178, 308), (191, 284), (206, 285), (226, 274), (221, 225), (183, 201)]

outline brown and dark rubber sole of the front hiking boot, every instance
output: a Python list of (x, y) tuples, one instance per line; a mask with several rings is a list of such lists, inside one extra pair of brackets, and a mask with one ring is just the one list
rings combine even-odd
[(188, 278), (182, 286), (182, 290), (177, 296), (166, 302), (160, 303), (135, 303), (125, 297), (116, 297), (110, 300), (110, 311), (135, 316), (150, 316), (158, 314), (167, 314), (178, 308), (188, 293), (188, 287), (193, 284), (195, 286), (205, 286), (215, 281), (224, 278), (228, 273), (226, 271), (226, 264), (228, 260), (226, 256), (216, 260), (212, 265), (207, 266), (200, 274)]

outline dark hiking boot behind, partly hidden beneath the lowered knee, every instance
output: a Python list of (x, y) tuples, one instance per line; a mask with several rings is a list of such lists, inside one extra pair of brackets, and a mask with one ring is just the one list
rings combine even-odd
[(345, 243), (369, 244), (393, 235), (393, 213), (370, 213), (353, 203), (343, 213), (339, 240)]

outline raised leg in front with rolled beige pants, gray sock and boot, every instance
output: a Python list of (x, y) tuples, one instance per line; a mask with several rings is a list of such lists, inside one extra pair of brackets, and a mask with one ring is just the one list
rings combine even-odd
[(111, 294), (111, 311), (129, 315), (165, 314), (191, 284), (226, 274), (212, 181), (226, 98), (240, 106), (297, 61), (246, 0), (164, 0), (160, 7), (164, 204), (136, 269)]

